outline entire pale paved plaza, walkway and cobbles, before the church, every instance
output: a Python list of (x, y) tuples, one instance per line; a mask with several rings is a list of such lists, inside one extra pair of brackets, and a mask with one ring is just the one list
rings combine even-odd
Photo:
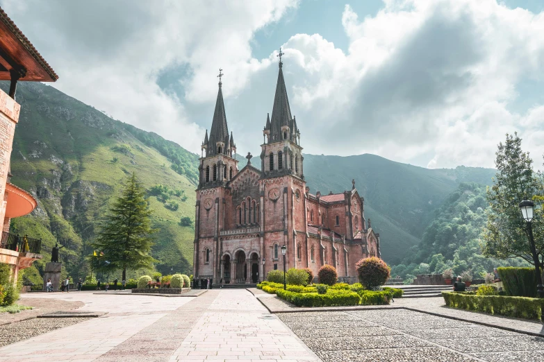
[(18, 322), (31, 338), (1, 347), (0, 361), (544, 361), (541, 337), (406, 309), (271, 314), (245, 289), (186, 298), (30, 293), (20, 302), (36, 298), (104, 315), (51, 320), (38, 336), (24, 329), (47, 320)]

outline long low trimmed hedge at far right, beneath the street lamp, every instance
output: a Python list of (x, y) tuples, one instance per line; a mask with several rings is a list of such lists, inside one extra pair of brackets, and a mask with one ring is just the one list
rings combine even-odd
[(442, 296), (448, 307), (507, 317), (539, 320), (544, 309), (544, 299), (538, 298), (475, 295), (444, 291)]

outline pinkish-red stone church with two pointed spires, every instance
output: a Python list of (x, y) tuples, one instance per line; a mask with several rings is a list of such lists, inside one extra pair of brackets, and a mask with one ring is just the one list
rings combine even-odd
[[(222, 76), (222, 74), (220, 74)], [(282, 62), (272, 107), (263, 130), (261, 169), (238, 170), (236, 144), (226, 124), (220, 78), (215, 112), (202, 144), (195, 218), (195, 277), (214, 283), (249, 284), (270, 270), (336, 267), (354, 282), (356, 262), (380, 256), (379, 234), (364, 216), (364, 200), (352, 182), (343, 193), (315, 195), (304, 180), (300, 132), (291, 116)]]

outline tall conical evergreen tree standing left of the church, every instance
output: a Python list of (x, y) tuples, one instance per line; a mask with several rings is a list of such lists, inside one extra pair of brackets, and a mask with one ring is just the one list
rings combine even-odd
[(135, 173), (124, 185), (121, 196), (115, 200), (106, 216), (93, 248), (104, 252), (100, 270), (150, 268), (156, 260), (149, 255), (153, 245), (151, 234), (151, 210), (144, 198), (145, 189)]

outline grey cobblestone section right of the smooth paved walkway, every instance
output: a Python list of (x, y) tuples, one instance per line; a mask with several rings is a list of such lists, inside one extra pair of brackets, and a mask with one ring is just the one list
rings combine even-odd
[(402, 309), (277, 313), (324, 362), (544, 361), (544, 338)]

